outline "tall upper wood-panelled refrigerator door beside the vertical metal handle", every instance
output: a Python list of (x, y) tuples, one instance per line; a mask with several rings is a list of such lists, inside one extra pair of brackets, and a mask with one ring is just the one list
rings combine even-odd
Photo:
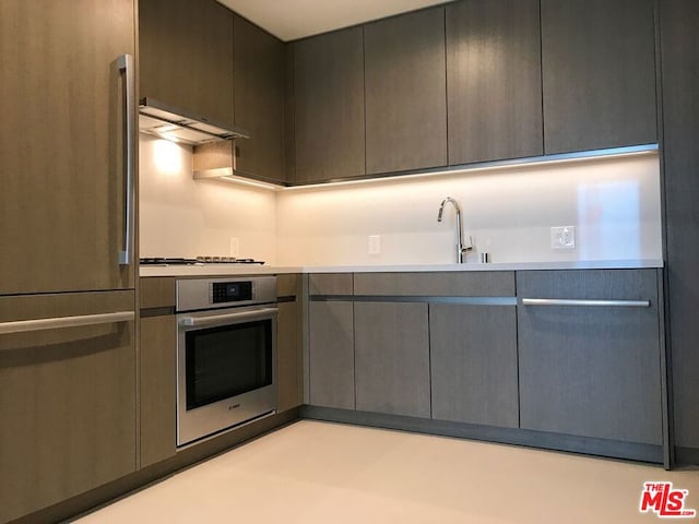
[(0, 49), (0, 295), (133, 288), (110, 67), (134, 53), (133, 1), (3, 0)]

